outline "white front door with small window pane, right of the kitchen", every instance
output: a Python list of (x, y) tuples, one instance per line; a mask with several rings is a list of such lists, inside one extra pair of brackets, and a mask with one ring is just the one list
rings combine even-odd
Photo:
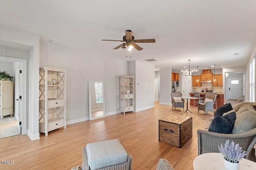
[(242, 96), (242, 78), (228, 78), (228, 99), (237, 100)]

